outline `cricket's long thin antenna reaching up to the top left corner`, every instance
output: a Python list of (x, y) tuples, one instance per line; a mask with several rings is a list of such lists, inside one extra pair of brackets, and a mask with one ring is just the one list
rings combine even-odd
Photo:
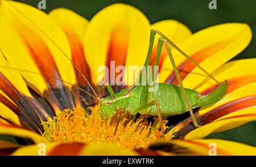
[[(10, 5), (11, 5), (11, 4), (10, 4)], [(38, 27), (38, 25), (36, 25), (34, 22), (32, 22), (32, 20), (30, 20), (30, 18), (28, 18), (26, 15), (24, 15), (22, 12), (20, 12), (20, 11), (18, 10), (18, 8), (14, 7), (13, 5), (11, 5), (11, 6), (12, 6), (16, 11), (18, 11), (21, 15), (23, 15), (26, 19), (28, 19), (28, 21), (29, 21), (30, 23), (32, 23), (36, 28), (38, 28), (39, 31), (42, 32), (43, 35), (46, 36), (46, 37), (48, 38), (48, 40), (50, 40), (50, 41), (52, 42), (52, 44), (55, 45), (55, 46), (60, 50), (60, 52), (65, 55), (66, 58), (69, 59), (69, 61), (71, 61), (72, 65), (76, 68), (77, 71), (79, 71), (79, 73), (81, 74), (82, 78), (84, 78), (84, 80), (86, 81), (86, 83), (88, 83), (89, 87), (92, 89), (94, 95), (96, 96), (97, 101), (100, 102), (101, 99), (100, 99), (100, 97), (98, 97), (97, 93), (94, 91), (92, 85), (88, 82), (88, 80), (85, 78), (84, 74), (82, 74), (82, 72), (81, 72), (81, 71), (79, 70), (79, 68), (75, 65), (75, 63), (72, 61), (72, 59), (69, 58), (68, 55), (65, 54), (65, 52), (60, 48), (60, 46), (58, 46), (58, 45), (57, 45), (40, 27)], [(65, 82), (65, 83), (67, 83), (67, 82)], [(93, 97), (94, 97), (94, 96), (93, 96)]]

